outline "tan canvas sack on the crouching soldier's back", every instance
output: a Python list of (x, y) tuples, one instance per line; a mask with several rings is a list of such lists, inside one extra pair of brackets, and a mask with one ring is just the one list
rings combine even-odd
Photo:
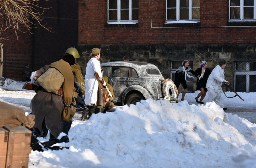
[(47, 92), (55, 94), (58, 94), (58, 90), (63, 82), (64, 76), (55, 68), (49, 68), (36, 80), (36, 83), (43, 87)]

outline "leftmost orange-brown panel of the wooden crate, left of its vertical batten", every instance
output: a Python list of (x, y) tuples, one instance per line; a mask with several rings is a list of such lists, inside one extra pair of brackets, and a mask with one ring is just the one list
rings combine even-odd
[(0, 128), (0, 167), (5, 167), (9, 131)]

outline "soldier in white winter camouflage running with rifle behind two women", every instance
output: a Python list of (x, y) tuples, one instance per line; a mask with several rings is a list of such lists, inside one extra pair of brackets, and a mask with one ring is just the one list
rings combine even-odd
[(221, 59), (219, 61), (219, 65), (217, 65), (212, 70), (212, 73), (210, 74), (206, 83), (206, 88), (208, 89), (209, 102), (214, 101), (217, 105), (223, 108), (224, 111), (227, 110), (227, 108), (225, 108), (223, 99), (221, 98), (221, 93), (223, 92), (221, 84), (225, 82), (229, 84), (229, 81), (226, 81), (224, 79), (224, 68), (226, 67), (226, 65), (226, 60)]

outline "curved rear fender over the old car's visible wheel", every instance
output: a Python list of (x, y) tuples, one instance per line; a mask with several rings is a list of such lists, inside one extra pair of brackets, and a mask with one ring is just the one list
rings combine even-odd
[(145, 97), (145, 99), (149, 99), (149, 98), (153, 99), (153, 96), (151, 95), (151, 93), (149, 93), (149, 91), (146, 90), (144, 87), (142, 87), (140, 85), (132, 85), (132, 86), (127, 87), (124, 90), (123, 96), (122, 96), (122, 105), (124, 105), (124, 100), (126, 98), (126, 95), (129, 92), (131, 92), (131, 91), (138, 91), (138, 92), (140, 92)]

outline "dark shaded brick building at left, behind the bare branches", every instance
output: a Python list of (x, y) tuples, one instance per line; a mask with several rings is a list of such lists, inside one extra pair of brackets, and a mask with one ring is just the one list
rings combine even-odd
[[(69, 47), (77, 46), (78, 0), (40, 1), (40, 6), (49, 8), (44, 11), (42, 23), (51, 27), (51, 32), (38, 26), (32, 30), (33, 34), (19, 32), (18, 39), (11, 29), (1, 34), (8, 37), (0, 42), (0, 71), (5, 78), (21, 80), (25, 64), (29, 63), (34, 71), (38, 70), (59, 60)], [(0, 24), (3, 23), (4, 19), (0, 18)]]

